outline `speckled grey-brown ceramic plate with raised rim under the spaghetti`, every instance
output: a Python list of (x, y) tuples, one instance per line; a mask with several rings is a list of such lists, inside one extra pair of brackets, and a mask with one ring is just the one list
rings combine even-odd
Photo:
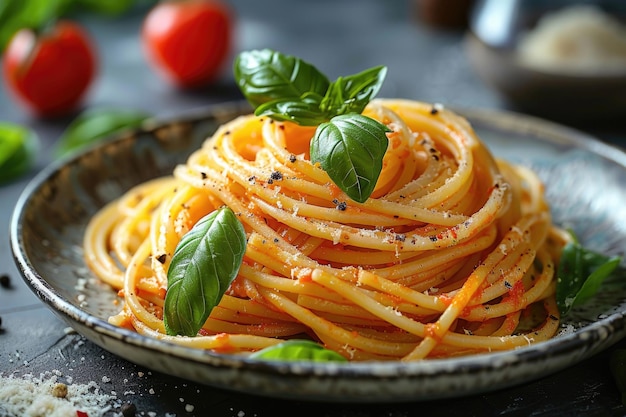
[[(59, 161), (27, 187), (11, 222), (18, 269), (32, 290), (86, 338), (137, 364), (230, 390), (319, 401), (416, 401), (470, 395), (540, 378), (626, 335), (626, 289), (606, 284), (559, 336), (515, 351), (414, 363), (270, 363), (175, 346), (107, 323), (115, 293), (83, 262), (89, 218), (135, 184), (170, 174), (218, 125), (248, 108), (233, 103), (154, 123)], [(622, 254), (626, 155), (577, 131), (512, 113), (459, 110), (497, 156), (535, 169), (557, 223), (586, 246)]]

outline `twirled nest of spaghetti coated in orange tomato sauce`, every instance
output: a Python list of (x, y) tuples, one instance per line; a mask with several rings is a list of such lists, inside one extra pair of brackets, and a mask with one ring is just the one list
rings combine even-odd
[[(449, 357), (552, 337), (564, 238), (538, 178), (496, 161), (451, 111), (374, 100), (364, 115), (391, 129), (364, 203), (310, 162), (314, 128), (249, 115), (220, 127), (172, 177), (103, 208), (85, 253), (123, 297), (111, 323), (241, 354), (308, 337), (350, 360)], [(172, 254), (224, 205), (246, 230), (239, 273), (197, 337), (166, 335)]]

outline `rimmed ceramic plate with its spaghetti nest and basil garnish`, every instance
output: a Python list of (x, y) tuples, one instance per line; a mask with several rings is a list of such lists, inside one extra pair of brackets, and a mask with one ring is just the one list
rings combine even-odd
[(49, 166), (11, 223), (26, 282), (121, 357), (280, 398), (470, 395), (626, 334), (623, 152), (500, 111), (302, 108), (216, 105)]

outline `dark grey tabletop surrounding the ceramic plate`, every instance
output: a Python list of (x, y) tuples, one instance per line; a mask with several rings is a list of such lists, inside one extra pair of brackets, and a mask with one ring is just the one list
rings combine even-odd
[[(237, 0), (231, 4), (237, 19), (234, 52), (274, 48), (315, 63), (331, 78), (385, 64), (389, 72), (380, 96), (449, 106), (509, 108), (469, 67), (463, 30), (435, 29), (420, 23), (409, 1)], [(158, 78), (141, 51), (138, 34), (142, 13), (139, 10), (115, 20), (86, 17), (101, 65), (87, 105), (143, 109), (169, 117), (241, 98), (229, 71), (215, 85), (193, 92), (176, 90)], [(325, 404), (261, 398), (184, 381), (116, 357), (66, 331), (68, 325), (24, 284), (9, 247), (7, 231), (18, 196), (35, 173), (51, 162), (51, 149), (70, 118), (30, 118), (13, 104), (2, 86), (0, 120), (28, 125), (42, 140), (42, 152), (32, 172), (0, 185), (0, 230), (4, 231), (0, 233), (0, 274), (8, 274), (12, 282), (10, 289), (0, 288), (3, 375), (38, 375), (57, 369), (76, 383), (103, 381), (99, 385), (104, 392), (114, 391), (122, 401), (132, 402), (141, 416), (626, 415), (608, 361), (611, 350), (626, 348), (624, 341), (569, 369), (522, 386), (496, 387), (490, 393), (452, 400), (400, 404)], [(593, 125), (576, 127), (604, 141), (626, 143), (624, 125), (603, 130)], [(193, 404), (194, 411), (186, 411), (186, 404)]]

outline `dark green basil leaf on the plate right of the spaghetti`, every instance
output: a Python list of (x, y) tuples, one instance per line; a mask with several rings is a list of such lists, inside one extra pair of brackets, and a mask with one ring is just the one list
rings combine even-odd
[(619, 256), (608, 257), (585, 249), (576, 240), (565, 245), (556, 286), (556, 302), (561, 315), (592, 298), (620, 261)]

